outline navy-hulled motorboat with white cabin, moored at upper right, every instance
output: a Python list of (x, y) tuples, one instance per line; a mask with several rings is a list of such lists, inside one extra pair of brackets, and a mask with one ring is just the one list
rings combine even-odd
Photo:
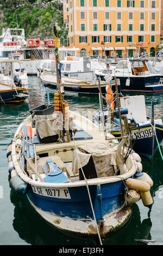
[[(112, 76), (120, 79), (122, 91), (159, 93), (163, 92), (162, 74), (152, 74), (146, 64), (146, 59), (120, 60)], [(96, 74), (105, 80), (105, 74)]]

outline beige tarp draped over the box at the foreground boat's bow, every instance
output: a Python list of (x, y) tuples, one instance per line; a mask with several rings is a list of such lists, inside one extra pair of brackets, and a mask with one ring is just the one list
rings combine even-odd
[(116, 151), (117, 145), (109, 142), (89, 143), (79, 146), (73, 153), (73, 174), (78, 173), (81, 168), (80, 164), (82, 167), (86, 166), (92, 156), (98, 178), (114, 175), (117, 170)]

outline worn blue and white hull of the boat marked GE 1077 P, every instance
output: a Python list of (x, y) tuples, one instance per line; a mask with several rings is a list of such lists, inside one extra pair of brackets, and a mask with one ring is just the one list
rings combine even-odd
[[(96, 221), (98, 225), (102, 220), (104, 222), (100, 229), (101, 235), (120, 228), (130, 217), (131, 207), (124, 203), (125, 188), (122, 180), (89, 186)], [(72, 233), (97, 235), (86, 186), (65, 186), (61, 190), (30, 185), (27, 196), (34, 209), (56, 228)]]

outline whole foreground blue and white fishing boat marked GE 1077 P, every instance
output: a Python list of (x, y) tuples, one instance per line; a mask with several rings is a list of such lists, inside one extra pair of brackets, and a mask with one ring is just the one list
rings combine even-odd
[[(54, 35), (57, 37), (55, 27)], [(126, 133), (118, 143), (106, 130), (68, 109), (58, 68), (57, 78), (54, 106), (32, 109), (8, 146), (10, 186), (26, 194), (34, 209), (54, 227), (96, 235), (102, 245), (101, 236), (129, 220), (131, 202), (140, 200), (139, 191), (143, 204), (151, 209), (152, 182), (140, 180), (140, 176), (145, 177), (137, 175), (140, 156), (129, 153), (126, 147), (126, 109), (121, 116)], [(101, 86), (99, 91), (102, 104)], [(121, 113), (120, 107), (117, 113)], [(134, 190), (135, 196), (129, 188), (138, 190)]]

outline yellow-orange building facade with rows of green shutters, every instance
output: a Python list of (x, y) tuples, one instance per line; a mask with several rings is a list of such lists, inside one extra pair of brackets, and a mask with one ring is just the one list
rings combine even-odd
[(136, 57), (160, 44), (161, 0), (68, 0), (78, 56)]

